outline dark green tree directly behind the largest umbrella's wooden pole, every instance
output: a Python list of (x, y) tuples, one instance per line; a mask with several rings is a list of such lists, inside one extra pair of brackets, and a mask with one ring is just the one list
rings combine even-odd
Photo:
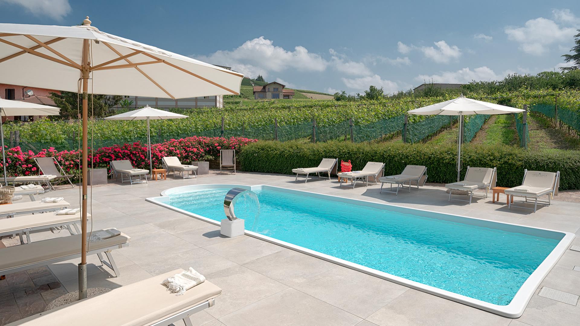
[[(77, 110), (77, 103), (79, 108), (82, 107), (82, 95), (77, 96), (77, 93), (63, 91), (60, 92), (60, 94), (50, 92), (49, 97), (53, 102), (55, 102), (56, 106), (60, 108), (61, 118), (78, 118), (79, 111)], [(94, 103), (92, 103), (93, 99), (95, 100)], [(106, 115), (110, 113), (110, 108), (117, 105), (122, 99), (123, 97), (120, 95), (89, 95), (89, 117), (92, 116), (91, 112), (94, 114), (95, 118), (106, 117)]]

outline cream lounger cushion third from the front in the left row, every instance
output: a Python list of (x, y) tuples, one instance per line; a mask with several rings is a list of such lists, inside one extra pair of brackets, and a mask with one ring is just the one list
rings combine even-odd
[[(90, 214), (87, 214), (90, 218)], [(33, 229), (45, 225), (61, 224), (67, 225), (81, 219), (81, 214), (56, 215), (55, 213), (41, 213), (34, 215), (22, 215), (12, 219), (0, 219), (0, 234)]]

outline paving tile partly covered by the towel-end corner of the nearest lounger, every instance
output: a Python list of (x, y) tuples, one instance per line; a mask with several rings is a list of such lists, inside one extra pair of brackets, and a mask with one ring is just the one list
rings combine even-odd
[(288, 288), (280, 282), (239, 265), (206, 274), (205, 277), (222, 288), (222, 295), (216, 298), (216, 305), (205, 310), (215, 318)]

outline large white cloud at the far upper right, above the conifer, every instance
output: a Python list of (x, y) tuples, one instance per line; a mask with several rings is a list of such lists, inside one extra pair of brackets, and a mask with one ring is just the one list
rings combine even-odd
[(519, 43), (519, 48), (531, 55), (543, 55), (548, 52), (549, 45), (559, 42), (570, 42), (576, 32), (575, 27), (568, 24), (580, 24), (578, 17), (569, 9), (552, 11), (554, 20), (538, 17), (525, 22), (523, 27), (507, 26), (504, 32), (511, 41)]

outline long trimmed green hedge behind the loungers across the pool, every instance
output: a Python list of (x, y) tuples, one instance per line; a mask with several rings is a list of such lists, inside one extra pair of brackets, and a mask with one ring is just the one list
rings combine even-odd
[[(292, 174), (293, 168), (317, 166), (322, 158), (351, 160), (354, 170), (368, 161), (385, 162), (385, 175), (401, 173), (407, 164), (427, 166), (429, 182), (455, 182), (455, 146), (433, 144), (369, 144), (348, 142), (258, 142), (248, 144), (238, 158), (249, 172)], [(465, 144), (462, 172), (467, 165), (498, 168), (498, 186), (521, 184), (524, 169), (560, 171), (560, 190), (580, 189), (580, 151), (528, 151), (510, 146)]]

